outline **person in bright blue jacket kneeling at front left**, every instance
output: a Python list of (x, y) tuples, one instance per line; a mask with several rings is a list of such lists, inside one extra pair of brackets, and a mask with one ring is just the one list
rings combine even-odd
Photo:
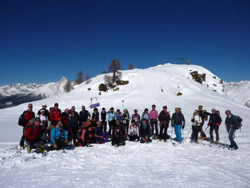
[(50, 141), (53, 144), (53, 149), (61, 149), (68, 143), (68, 133), (63, 128), (62, 122), (58, 121), (56, 127), (51, 130)]

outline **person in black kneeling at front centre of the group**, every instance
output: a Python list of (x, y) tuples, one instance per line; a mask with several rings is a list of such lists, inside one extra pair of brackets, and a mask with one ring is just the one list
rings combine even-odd
[(119, 120), (115, 121), (115, 129), (114, 134), (112, 135), (112, 146), (121, 146), (125, 145), (125, 139), (124, 139), (124, 129), (121, 125), (121, 122)]

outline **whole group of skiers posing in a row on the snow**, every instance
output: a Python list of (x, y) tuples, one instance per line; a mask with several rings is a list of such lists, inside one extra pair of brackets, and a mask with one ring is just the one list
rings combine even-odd
[[(19, 118), (19, 125), (23, 126), (20, 148), (24, 149), (26, 141), (28, 153), (32, 148), (44, 152), (45, 145), (49, 145), (49, 149), (58, 150), (68, 145), (91, 146), (93, 143), (102, 144), (109, 141), (114, 146), (125, 145), (127, 140), (140, 143), (149, 143), (152, 139), (166, 141), (172, 139), (172, 132), (171, 135), (168, 134), (169, 124), (172, 126), (172, 131), (173, 129), (175, 131), (175, 140), (182, 142), (181, 130), (185, 128), (185, 118), (181, 109), (175, 108), (175, 112), (170, 116), (167, 106), (163, 106), (158, 114), (156, 106), (152, 105), (152, 109), (149, 111), (146, 108), (141, 116), (137, 110), (130, 116), (127, 109), (121, 112), (119, 109), (114, 111), (113, 107), (108, 112), (102, 108), (100, 113), (98, 108), (94, 108), (90, 114), (85, 106), (82, 106), (79, 113), (72, 106), (71, 109), (66, 108), (62, 112), (58, 103), (49, 110), (46, 105), (42, 105), (36, 116), (32, 109), (33, 105), (29, 104), (28, 109)], [(226, 111), (226, 115), (225, 124), (231, 142), (230, 147), (238, 149), (234, 141), (234, 132), (239, 122), (229, 110)], [(194, 111), (191, 119), (191, 142), (198, 142), (199, 133), (201, 139), (207, 138), (203, 131), (203, 125), (207, 120), (210, 126), (210, 142), (219, 143), (219, 126), (222, 122), (220, 114), (216, 109), (208, 113), (201, 105)], [(216, 140), (213, 137), (214, 131)]]

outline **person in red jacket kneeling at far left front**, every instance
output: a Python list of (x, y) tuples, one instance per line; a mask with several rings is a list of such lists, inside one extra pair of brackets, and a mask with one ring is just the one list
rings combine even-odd
[(32, 148), (37, 148), (38, 152), (44, 152), (42, 145), (42, 129), (40, 126), (40, 119), (31, 119), (25, 127), (25, 138), (27, 146), (27, 152), (31, 153)]

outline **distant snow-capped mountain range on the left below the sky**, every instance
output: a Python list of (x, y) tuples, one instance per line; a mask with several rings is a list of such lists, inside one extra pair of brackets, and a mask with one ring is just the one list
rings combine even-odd
[(58, 82), (48, 84), (13, 84), (0, 87), (0, 108), (16, 106), (24, 102), (30, 102), (48, 98), (64, 93), (64, 85), (67, 79), (63, 77)]

